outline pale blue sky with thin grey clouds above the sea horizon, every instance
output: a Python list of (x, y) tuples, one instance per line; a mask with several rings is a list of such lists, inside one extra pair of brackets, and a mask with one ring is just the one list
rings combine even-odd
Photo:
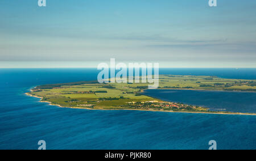
[(256, 1), (0, 1), (0, 68), (256, 67)]

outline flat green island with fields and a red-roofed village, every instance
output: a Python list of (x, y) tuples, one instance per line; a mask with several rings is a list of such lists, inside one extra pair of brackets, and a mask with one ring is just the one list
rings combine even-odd
[[(148, 83), (100, 84), (97, 81), (82, 81), (37, 86), (27, 95), (41, 98), (41, 101), (51, 105), (68, 108), (255, 115), (210, 111), (196, 105), (163, 101), (143, 95), (147, 88)], [(193, 75), (159, 75), (158, 89), (256, 92), (256, 81)]]

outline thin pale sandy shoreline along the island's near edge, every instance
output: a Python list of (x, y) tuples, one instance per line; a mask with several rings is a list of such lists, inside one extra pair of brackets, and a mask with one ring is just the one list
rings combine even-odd
[[(32, 90), (30, 90), (32, 91)], [(144, 90), (142, 90), (143, 92)], [(59, 104), (52, 104), (49, 101), (42, 101), (42, 97), (31, 95), (29, 93), (26, 93), (27, 96), (35, 97), (35, 98), (40, 98), (41, 100), (39, 102), (41, 103), (48, 103), (49, 105), (52, 106), (57, 106), (60, 108), (73, 108), (73, 109), (89, 109), (89, 110), (104, 110), (104, 111), (119, 111), (119, 110), (129, 110), (129, 111), (151, 111), (151, 112), (171, 112), (171, 113), (202, 113), (202, 114), (214, 114), (214, 115), (250, 115), (250, 116), (256, 116), (256, 113), (214, 113), (214, 112), (182, 112), (182, 111), (156, 111), (156, 110), (150, 110), (150, 109), (93, 109), (93, 108), (86, 108), (86, 107), (63, 107)]]

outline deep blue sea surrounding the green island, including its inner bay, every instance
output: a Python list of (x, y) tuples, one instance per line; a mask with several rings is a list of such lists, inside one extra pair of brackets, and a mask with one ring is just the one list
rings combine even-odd
[[(256, 149), (256, 116), (59, 108), (26, 96), (40, 84), (91, 81), (96, 69), (0, 69), (0, 149)], [(160, 74), (256, 79), (256, 69), (160, 69)], [(256, 112), (253, 92), (147, 91), (210, 109)]]

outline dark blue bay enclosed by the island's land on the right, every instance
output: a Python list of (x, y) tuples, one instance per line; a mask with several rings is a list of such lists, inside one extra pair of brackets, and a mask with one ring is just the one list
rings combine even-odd
[(144, 94), (165, 101), (207, 107), (211, 111), (256, 113), (256, 92), (145, 90)]

